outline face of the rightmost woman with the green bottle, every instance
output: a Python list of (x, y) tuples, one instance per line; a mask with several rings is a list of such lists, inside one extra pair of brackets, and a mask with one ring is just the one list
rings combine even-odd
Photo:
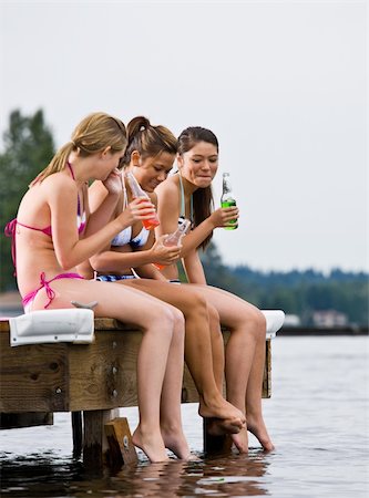
[(214, 144), (197, 142), (178, 156), (181, 175), (197, 188), (208, 187), (218, 169), (218, 151)]

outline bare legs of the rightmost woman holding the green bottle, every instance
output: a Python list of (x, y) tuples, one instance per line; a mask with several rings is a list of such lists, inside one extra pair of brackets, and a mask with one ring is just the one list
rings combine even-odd
[[(265, 364), (266, 323), (253, 304), (222, 289), (191, 284), (199, 289), (219, 313), (221, 322), (230, 331), (226, 347), (227, 400), (246, 414), (247, 428), (262, 446), (274, 448), (262, 412)], [(247, 430), (232, 436), (242, 453), (248, 450)]]

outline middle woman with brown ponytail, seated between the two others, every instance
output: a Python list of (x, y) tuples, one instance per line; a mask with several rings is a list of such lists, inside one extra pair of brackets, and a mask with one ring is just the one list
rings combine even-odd
[[(164, 126), (153, 126), (143, 116), (129, 123), (127, 136), (129, 145), (121, 160), (124, 167), (122, 193), (114, 216), (121, 216), (133, 199), (125, 172), (133, 173), (155, 205), (154, 189), (172, 169), (177, 151), (175, 136)], [(106, 189), (101, 183), (90, 187), (92, 210), (101, 206), (105, 196)], [(96, 271), (98, 280), (134, 287), (183, 312), (185, 360), (199, 394), (199, 414), (213, 421), (209, 429), (215, 433), (238, 433), (244, 426), (245, 417), (238, 408), (224, 400), (218, 388), (223, 377), (224, 351), (217, 312), (196, 289), (170, 283), (154, 268), (152, 263), (172, 264), (178, 259), (180, 248), (165, 247), (164, 238), (165, 235), (155, 241), (154, 230), (145, 229), (143, 224), (137, 221), (132, 228), (122, 230), (112, 238), (90, 262)], [(141, 278), (136, 278), (137, 274)], [(167, 425), (173, 425), (173, 421), (167, 421)], [(183, 452), (170, 440), (166, 446), (182, 456)]]

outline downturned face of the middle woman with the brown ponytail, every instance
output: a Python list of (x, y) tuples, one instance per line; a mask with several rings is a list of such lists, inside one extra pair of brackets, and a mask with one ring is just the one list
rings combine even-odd
[(141, 187), (151, 193), (164, 181), (173, 167), (174, 154), (163, 152), (156, 157), (140, 158), (134, 167), (134, 176)]

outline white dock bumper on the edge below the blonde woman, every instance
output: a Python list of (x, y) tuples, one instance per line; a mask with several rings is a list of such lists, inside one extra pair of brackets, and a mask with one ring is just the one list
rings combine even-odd
[(86, 309), (31, 311), (10, 318), (9, 325), (11, 346), (94, 340), (94, 313)]

